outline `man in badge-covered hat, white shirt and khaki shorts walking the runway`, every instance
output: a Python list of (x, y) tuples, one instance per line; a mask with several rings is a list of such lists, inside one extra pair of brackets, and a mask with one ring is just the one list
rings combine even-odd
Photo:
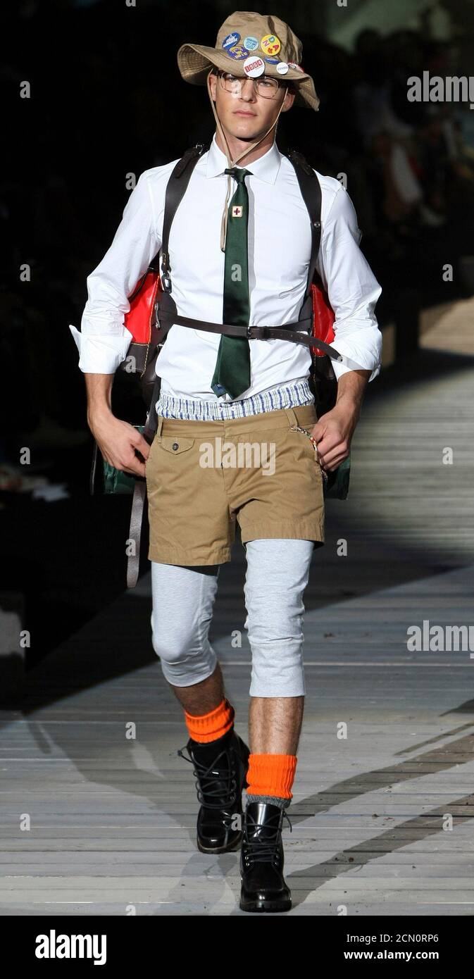
[[(216, 122), (169, 236), (178, 314), (208, 323), (293, 323), (307, 288), (311, 233), (275, 129), (294, 102), (312, 110), (319, 104), (301, 65), (301, 42), (277, 17), (237, 12), (214, 47), (184, 44), (177, 60), (186, 81), (207, 84)], [(173, 93), (169, 79), (169, 108)], [(374, 309), (381, 289), (359, 250), (348, 193), (318, 173), (316, 267), (336, 314), (337, 350), (360, 369), (334, 363), (337, 403), (316, 422), (308, 347), (174, 324), (157, 361), (159, 425), (150, 450), (112, 414), (111, 389), (131, 339), (123, 326), (127, 296), (161, 247), (175, 163), (141, 174), (111, 248), (88, 277), (81, 333), (72, 330), (88, 422), (104, 458), (147, 479), (153, 644), (189, 734), (201, 803), (198, 847), (214, 854), (241, 845), (240, 907), (287, 910), (282, 823), (304, 710), (303, 596), (313, 548), (324, 540), (322, 469), (336, 469), (349, 455), (364, 389), (380, 370)], [(315, 439), (318, 455), (301, 429)], [(245, 451), (256, 445), (260, 458), (249, 465)], [(250, 748), (234, 729), (208, 637), (218, 569), (230, 560), (236, 521), (247, 556)]]

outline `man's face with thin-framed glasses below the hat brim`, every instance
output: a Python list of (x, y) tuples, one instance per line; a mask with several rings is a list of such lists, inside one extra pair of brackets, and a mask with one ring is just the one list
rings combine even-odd
[[(281, 104), (282, 112), (291, 109), (295, 101), (294, 92), (286, 92), (281, 87), (274, 98), (261, 96), (252, 78), (239, 78), (240, 85), (234, 91), (226, 91), (215, 74), (210, 76), (211, 94), (215, 102), (217, 116), (222, 127), (235, 139), (253, 141), (266, 132), (275, 121)], [(240, 89), (240, 90), (239, 90)]]

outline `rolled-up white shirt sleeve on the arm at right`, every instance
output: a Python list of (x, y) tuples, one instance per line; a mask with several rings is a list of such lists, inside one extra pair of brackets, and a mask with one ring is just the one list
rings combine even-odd
[[(335, 313), (334, 341), (330, 344), (361, 370), (369, 381), (380, 373), (382, 334), (375, 305), (382, 292), (367, 259), (359, 249), (361, 231), (356, 210), (341, 184), (323, 221), (317, 269)], [(331, 360), (339, 380), (356, 369)]]

